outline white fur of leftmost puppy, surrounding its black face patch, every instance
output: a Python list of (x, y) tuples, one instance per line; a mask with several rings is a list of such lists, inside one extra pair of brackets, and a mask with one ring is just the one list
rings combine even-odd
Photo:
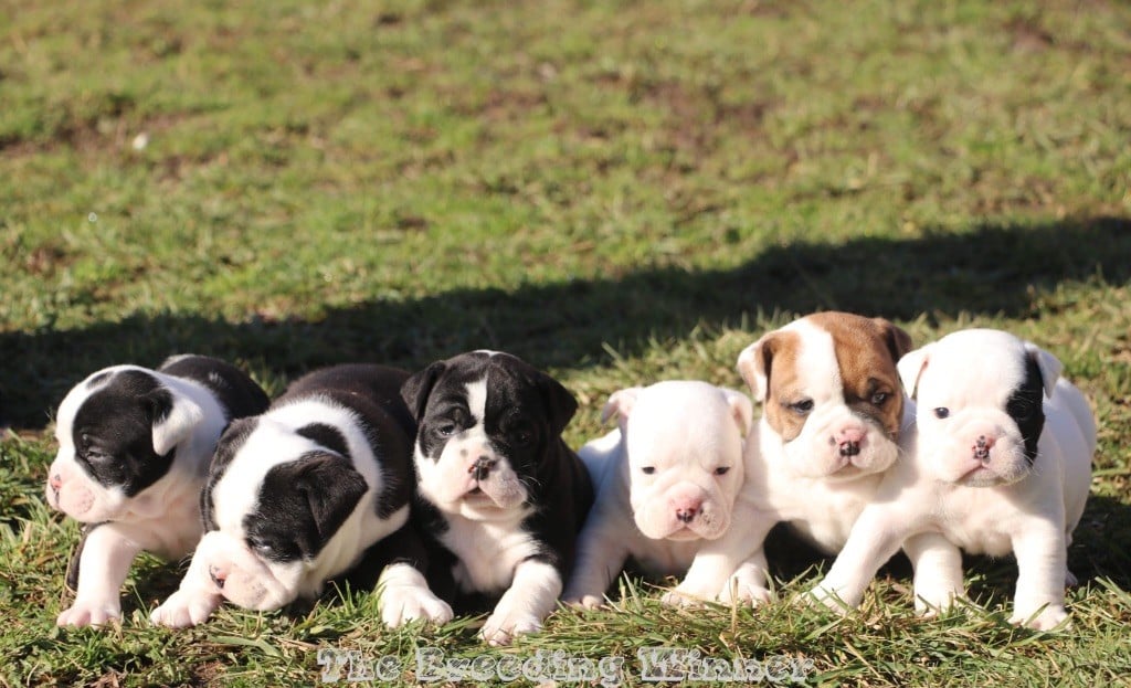
[[(175, 449), (169, 473), (132, 498), (105, 488), (75, 461), (75, 414), (97, 389), (90, 378), (139, 370), (156, 378), (173, 397), (173, 411), (154, 428), (159, 454)], [(208, 462), (226, 424), (211, 392), (191, 380), (137, 366), (114, 366), (76, 385), (59, 405), (55, 438), (59, 452), (48, 468), (46, 499), (52, 507), (84, 523), (102, 523), (84, 544), (75, 603), (57, 619), (60, 626), (97, 626), (121, 617), (119, 590), (130, 564), (141, 551), (176, 560), (200, 539), (199, 493)]]

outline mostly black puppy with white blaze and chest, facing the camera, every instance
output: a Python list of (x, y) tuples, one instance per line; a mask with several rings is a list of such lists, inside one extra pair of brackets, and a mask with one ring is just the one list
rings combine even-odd
[(420, 423), (417, 507), (440, 545), (433, 566), (463, 593), (501, 594), (481, 630), (492, 645), (538, 630), (593, 504), (585, 465), (561, 438), (577, 402), (491, 351), (432, 363), (402, 394)]

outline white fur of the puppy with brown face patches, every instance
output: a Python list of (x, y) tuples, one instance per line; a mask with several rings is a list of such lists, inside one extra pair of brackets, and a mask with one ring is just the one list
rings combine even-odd
[[(725, 602), (770, 599), (762, 548), (777, 523), (789, 523), (826, 552), (839, 551), (856, 517), (872, 501), (883, 473), (898, 463), (899, 446), (882, 429), (857, 419), (845, 403), (832, 336), (805, 318), (783, 329), (800, 336), (797, 379), (813, 408), (802, 432), (788, 442), (765, 415), (746, 438), (746, 482), (735, 508), (756, 516), (741, 538), (734, 536), (745, 545), (749, 557), (734, 561), (725, 552), (717, 553), (715, 566), (734, 571), (720, 593)], [(753, 364), (763, 342), (751, 344), (739, 356), (739, 370), (758, 401), (766, 401), (768, 394), (765, 371)], [(913, 420), (913, 404), (906, 398), (904, 404), (900, 435)], [(862, 431), (865, 439), (857, 456), (845, 458), (829, 438), (853, 429)]]

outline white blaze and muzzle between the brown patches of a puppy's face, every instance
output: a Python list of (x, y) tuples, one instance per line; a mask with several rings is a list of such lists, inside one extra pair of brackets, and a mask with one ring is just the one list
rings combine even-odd
[[(802, 478), (834, 481), (888, 470), (898, 456), (898, 445), (880, 423), (848, 406), (831, 334), (804, 319), (786, 329), (800, 335), (800, 346), (796, 377), (780, 399), (793, 406), (782, 412), (805, 416), (801, 432), (784, 444), (788, 468)], [(855, 453), (843, 450), (846, 442), (855, 446)]]

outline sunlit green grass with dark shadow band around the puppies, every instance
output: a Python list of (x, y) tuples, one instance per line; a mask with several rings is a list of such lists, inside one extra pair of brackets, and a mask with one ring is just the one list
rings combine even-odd
[(630, 683), (657, 645), (827, 685), (1131, 676), (1126, 3), (16, 0), (0, 34), (0, 682), (310, 685), (320, 648), (486, 652), (466, 619), (382, 629), (364, 593), (152, 629), (176, 570), (148, 559), (121, 628), (57, 629), (78, 531), (42, 501), (48, 430), (97, 368), (195, 351), (278, 392), (501, 349), (577, 394), (579, 445), (611, 392), (741, 386), (742, 347), (831, 308), (917, 343), (1008, 328), (1093, 399), (1072, 630), (1005, 625), (1012, 564), (984, 559), (988, 611), (917, 620), (893, 567), (835, 619), (787, 601), (826, 564), (783, 545), (785, 601), (690, 613), (627, 578), (619, 610), (501, 654), (622, 657)]

